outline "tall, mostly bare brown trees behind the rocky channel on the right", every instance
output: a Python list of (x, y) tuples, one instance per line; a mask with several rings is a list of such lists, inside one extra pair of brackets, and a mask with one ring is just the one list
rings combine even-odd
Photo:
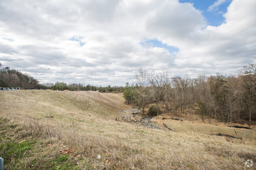
[[(199, 74), (171, 77), (170, 73), (147, 71), (139, 68), (135, 73), (135, 85), (124, 87), (126, 103), (142, 108), (148, 104), (192, 121), (195, 116), (211, 123), (212, 119), (230, 122), (235, 119), (256, 120), (256, 64), (249, 64), (237, 75), (216, 73), (207, 77)], [(164, 108), (164, 109), (163, 109)]]

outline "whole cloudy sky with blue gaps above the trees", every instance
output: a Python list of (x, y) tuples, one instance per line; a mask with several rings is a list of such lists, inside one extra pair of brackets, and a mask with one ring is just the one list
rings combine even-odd
[(256, 0), (0, 0), (0, 63), (40, 83), (125, 86), (256, 63)]

